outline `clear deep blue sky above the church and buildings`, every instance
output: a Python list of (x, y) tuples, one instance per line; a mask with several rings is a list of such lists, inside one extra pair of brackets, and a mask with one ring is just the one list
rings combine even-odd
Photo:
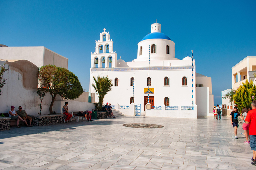
[(132, 61), (157, 19), (175, 42), (176, 58), (193, 50), (196, 72), (212, 78), (214, 104), (232, 88), (231, 67), (256, 56), (255, 0), (0, 0), (0, 16), (0, 44), (45, 46), (69, 58), (69, 70), (86, 90), (91, 52), (104, 28), (117, 56)]

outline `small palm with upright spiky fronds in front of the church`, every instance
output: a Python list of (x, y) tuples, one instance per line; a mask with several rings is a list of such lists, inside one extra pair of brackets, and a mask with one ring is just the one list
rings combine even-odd
[(102, 108), (103, 99), (106, 96), (106, 94), (111, 91), (111, 87), (113, 86), (112, 80), (108, 78), (108, 76), (104, 77), (97, 77), (93, 76), (93, 80), (95, 84), (92, 84), (92, 87), (95, 89), (98, 97), (99, 97), (99, 108)]

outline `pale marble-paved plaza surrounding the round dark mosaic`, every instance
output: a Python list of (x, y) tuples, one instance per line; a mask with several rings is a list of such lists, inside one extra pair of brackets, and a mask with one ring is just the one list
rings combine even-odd
[[(130, 128), (123, 124), (164, 128)], [(229, 117), (213, 120), (120, 116), (0, 131), (4, 170), (252, 170), (252, 151), (232, 140)]]

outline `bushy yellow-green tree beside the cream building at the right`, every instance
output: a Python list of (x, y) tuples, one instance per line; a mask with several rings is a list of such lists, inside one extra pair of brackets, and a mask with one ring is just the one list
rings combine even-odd
[(255, 85), (253, 84), (252, 80), (250, 83), (246, 80), (246, 82), (239, 86), (239, 88), (235, 91), (233, 99), (235, 101), (235, 105), (237, 105), (238, 111), (241, 113), (243, 107), (251, 107), (252, 100), (255, 97)]

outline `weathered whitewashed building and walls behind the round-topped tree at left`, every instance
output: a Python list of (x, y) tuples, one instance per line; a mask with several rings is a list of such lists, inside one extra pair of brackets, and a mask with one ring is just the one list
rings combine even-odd
[[(3, 74), (3, 79), (6, 81), (0, 95), (0, 113), (8, 113), (11, 106), (14, 106), (15, 110), (22, 106), (29, 115), (38, 115), (40, 100), (36, 93), (37, 71), (39, 67), (48, 64), (68, 68), (68, 58), (44, 46), (8, 47), (0, 45), (0, 66), (8, 69)], [(66, 101), (69, 102), (71, 112), (94, 109), (94, 95), (83, 92), (79, 98), (74, 100), (65, 100), (57, 95), (53, 111), (62, 113), (62, 107)], [(42, 102), (42, 115), (49, 114), (51, 100), (51, 95), (47, 93)]]

